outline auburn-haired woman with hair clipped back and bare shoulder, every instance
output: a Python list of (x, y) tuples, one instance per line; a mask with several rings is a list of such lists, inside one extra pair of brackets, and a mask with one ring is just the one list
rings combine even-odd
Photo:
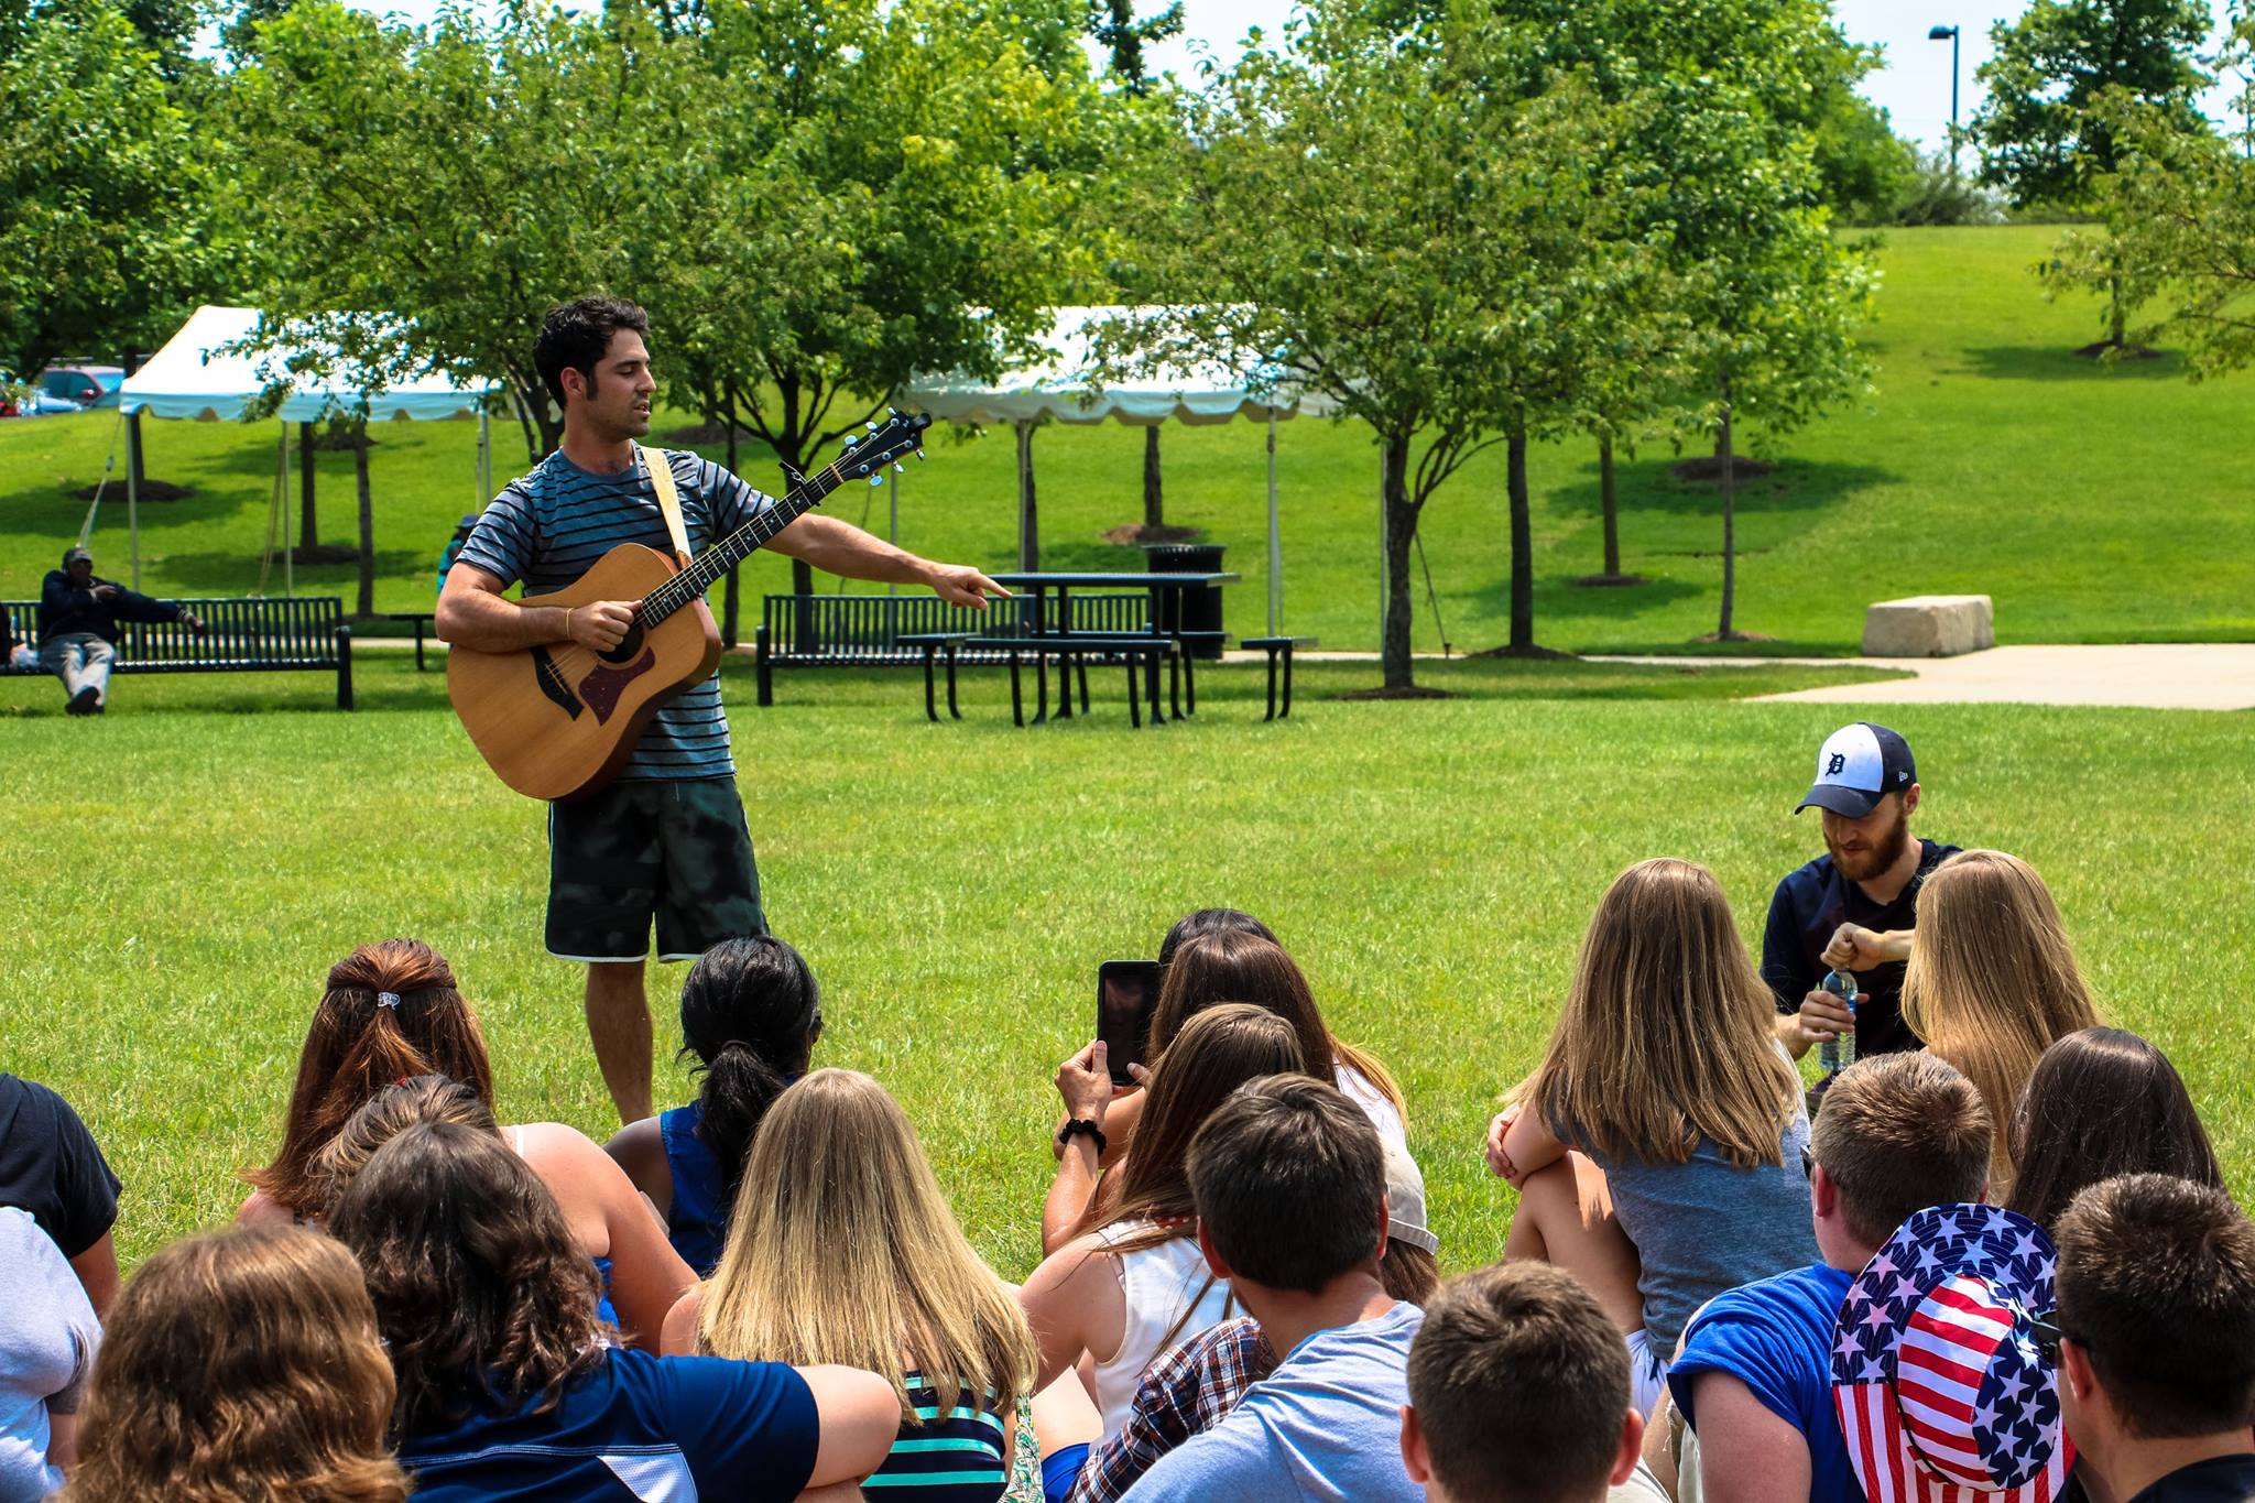
[[(370, 1097), (417, 1075), (444, 1075), (469, 1086), (487, 1111), (494, 1106), (485, 1037), (446, 960), (422, 940), (363, 944), (329, 971), (298, 1057), (282, 1149), (244, 1176), (255, 1190), (235, 1219), (259, 1226), (318, 1217), (327, 1194), (320, 1151)], [(665, 1311), (697, 1275), (665, 1244), (634, 1183), (561, 1122), (505, 1127), (503, 1136), (561, 1201), (580, 1248), (607, 1280), (620, 1329), (656, 1352)]]

